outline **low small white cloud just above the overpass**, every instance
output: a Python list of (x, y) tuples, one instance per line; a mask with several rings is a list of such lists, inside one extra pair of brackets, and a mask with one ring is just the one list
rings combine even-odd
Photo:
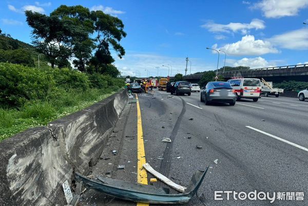
[(233, 66), (248, 66), (251, 69), (255, 68), (264, 68), (264, 67), (274, 67), (276, 66), (275, 63), (268, 63), (262, 57), (256, 58), (243, 58), (241, 60), (236, 61)]

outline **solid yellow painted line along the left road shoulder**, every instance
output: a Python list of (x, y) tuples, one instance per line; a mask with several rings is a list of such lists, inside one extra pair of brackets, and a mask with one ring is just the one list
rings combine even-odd
[[(136, 99), (138, 100), (138, 96), (136, 94)], [(142, 121), (141, 121), (141, 110), (139, 101), (137, 101), (137, 182), (141, 184), (147, 183), (147, 173), (145, 168), (143, 168), (143, 164), (146, 163), (145, 160), (145, 151), (144, 151), (144, 141), (143, 141), (143, 132), (142, 132)], [(138, 202), (138, 206), (147, 206), (148, 203)]]

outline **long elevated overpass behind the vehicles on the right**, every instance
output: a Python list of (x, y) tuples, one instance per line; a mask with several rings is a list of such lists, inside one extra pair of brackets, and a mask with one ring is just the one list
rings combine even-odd
[[(225, 80), (233, 78), (264, 78), (266, 81), (305, 81), (308, 82), (308, 64), (288, 65), (279, 67), (265, 67), (258, 69), (246, 69), (218, 72)], [(189, 82), (199, 82), (203, 74), (189, 74), (183, 76)]]

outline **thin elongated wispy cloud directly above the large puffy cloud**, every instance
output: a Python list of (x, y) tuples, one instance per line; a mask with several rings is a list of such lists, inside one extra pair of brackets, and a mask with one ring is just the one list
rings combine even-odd
[(238, 32), (241, 31), (242, 34), (246, 34), (251, 29), (264, 29), (264, 21), (255, 18), (251, 23), (229, 23), (229, 24), (216, 24), (213, 21), (209, 21), (206, 24), (201, 25), (202, 28), (208, 29), (210, 32)]

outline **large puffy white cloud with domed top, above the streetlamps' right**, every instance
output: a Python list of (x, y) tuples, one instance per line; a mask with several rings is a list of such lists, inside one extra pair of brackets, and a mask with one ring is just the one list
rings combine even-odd
[[(213, 45), (217, 48), (217, 44)], [(266, 53), (278, 53), (278, 50), (268, 41), (255, 40), (254, 35), (245, 35), (238, 42), (226, 44), (219, 48), (228, 55), (262, 55)]]

